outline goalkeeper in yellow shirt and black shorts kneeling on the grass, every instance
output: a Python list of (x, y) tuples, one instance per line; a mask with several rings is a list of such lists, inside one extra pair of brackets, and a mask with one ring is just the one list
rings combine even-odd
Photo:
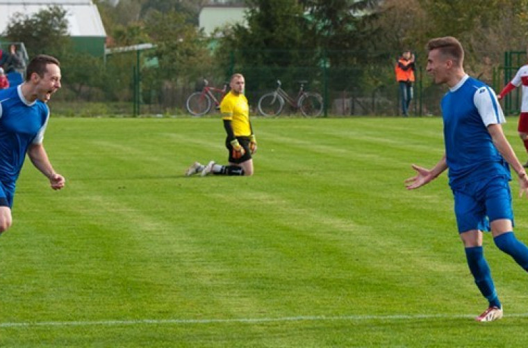
[(185, 175), (200, 173), (206, 176), (253, 175), (253, 159), (256, 152), (256, 139), (249, 122), (249, 105), (244, 95), (245, 80), (242, 74), (233, 74), (229, 82), (231, 90), (220, 103), (220, 113), (226, 130), (226, 148), (229, 150), (229, 165), (222, 166), (210, 161), (206, 166), (195, 162)]

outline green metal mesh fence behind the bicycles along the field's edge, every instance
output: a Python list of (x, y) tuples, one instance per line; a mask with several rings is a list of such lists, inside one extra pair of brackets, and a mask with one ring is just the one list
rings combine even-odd
[[(397, 54), (377, 54), (370, 61), (368, 57), (356, 58), (358, 52), (297, 52), (295, 56), (311, 57), (300, 64), (291, 64), (283, 58), (281, 61), (281, 52), (270, 50), (249, 52), (251, 56), (264, 56), (266, 59), (256, 58), (254, 62), (242, 63), (247, 61), (240, 58), (244, 54), (248, 52), (233, 52), (229, 64), (215, 70), (204, 68), (207, 72), (200, 77), (186, 76), (184, 71), (178, 77), (164, 76), (160, 68), (145, 64), (139, 55), (131, 56), (128, 61), (110, 60), (106, 70), (113, 77), (107, 83), (112, 84), (112, 93), (104, 91), (109, 86), (91, 88), (90, 100), (86, 103), (83, 95), (61, 92), (62, 96), (59, 93), (52, 101), (53, 112), (67, 116), (183, 115), (186, 113), (185, 100), (191, 93), (201, 90), (203, 79), (221, 88), (229, 79), (229, 74), (241, 72), (246, 78), (246, 95), (254, 114), (257, 113), (258, 99), (274, 90), (277, 79), (281, 79), (283, 88), (293, 96), (299, 90), (299, 81), (307, 81), (308, 90), (324, 97), (324, 116), (401, 115), (394, 72)], [(288, 56), (292, 56), (291, 52)], [(493, 68), (493, 78), (486, 81), (497, 92), (520, 66), (520, 61), (513, 60), (511, 55), (508, 57), (509, 61), (506, 58), (504, 61), (509, 65)], [(447, 88), (433, 84), (422, 65), (417, 66), (415, 75), (410, 115), (440, 115), (440, 99)], [(518, 110), (519, 98), (518, 91), (509, 95), (505, 104), (506, 113)], [(212, 112), (215, 112), (214, 108)], [(286, 114), (296, 112), (295, 108), (286, 110)]]

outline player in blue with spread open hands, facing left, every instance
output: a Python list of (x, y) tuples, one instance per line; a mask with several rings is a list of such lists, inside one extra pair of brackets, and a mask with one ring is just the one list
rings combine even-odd
[(502, 318), (502, 305), (482, 248), (482, 231), (491, 230), (495, 245), (528, 271), (528, 248), (513, 234), (509, 187), (510, 166), (518, 175), (520, 196), (528, 196), (528, 177), (502, 123), (506, 122), (493, 90), (463, 70), (464, 52), (456, 38), (435, 38), (427, 44), (427, 72), (449, 91), (441, 102), (445, 155), (431, 169), (413, 165), (417, 172), (405, 180), (418, 189), (449, 168), (454, 212), (470, 272), (488, 308), (478, 322)]

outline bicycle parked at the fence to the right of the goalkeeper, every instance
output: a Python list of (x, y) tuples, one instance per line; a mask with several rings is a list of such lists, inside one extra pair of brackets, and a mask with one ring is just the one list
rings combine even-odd
[(322, 96), (319, 93), (306, 92), (304, 90), (304, 85), (308, 81), (298, 82), (301, 86), (297, 97), (294, 99), (286, 93), (286, 90), (282, 89), (281, 80), (277, 80), (277, 89), (266, 93), (258, 100), (258, 112), (262, 116), (279, 116), (284, 104), (288, 102), (290, 106), (299, 109), (306, 117), (320, 116), (323, 108)]

